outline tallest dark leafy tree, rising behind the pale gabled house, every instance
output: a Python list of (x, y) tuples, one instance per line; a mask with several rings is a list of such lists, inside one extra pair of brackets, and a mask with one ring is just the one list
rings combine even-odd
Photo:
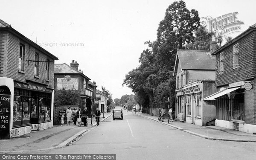
[(173, 2), (157, 29), (157, 54), (159, 64), (171, 69), (175, 63), (177, 48), (184, 49), (186, 43), (194, 39), (193, 32), (200, 26), (198, 11), (186, 8), (183, 0)]

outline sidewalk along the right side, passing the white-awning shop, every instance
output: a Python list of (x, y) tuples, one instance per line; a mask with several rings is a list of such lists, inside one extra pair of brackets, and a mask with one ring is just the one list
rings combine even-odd
[[(138, 116), (143, 116), (145, 118), (157, 121), (158, 116), (151, 116), (146, 113), (136, 113)], [(225, 141), (237, 141), (237, 142), (256, 142), (255, 134), (247, 134), (244, 132), (222, 128), (218, 126), (199, 126), (193, 125), (186, 122), (172, 122), (168, 119), (165, 119), (164, 122), (161, 122), (165, 125), (169, 125), (173, 128), (177, 128), (180, 131), (193, 134), (198, 137), (202, 137), (209, 140), (225, 140)]]

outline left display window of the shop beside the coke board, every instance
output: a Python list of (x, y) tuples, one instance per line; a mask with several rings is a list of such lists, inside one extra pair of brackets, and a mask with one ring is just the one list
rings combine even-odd
[(30, 121), (31, 92), (15, 89), (13, 102), (13, 126), (25, 125)]

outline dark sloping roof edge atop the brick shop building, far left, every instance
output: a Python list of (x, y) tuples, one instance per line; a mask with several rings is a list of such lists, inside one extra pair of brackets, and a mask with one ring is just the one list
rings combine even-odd
[(22, 38), (23, 41), (26, 41), (27, 43), (33, 45), (33, 47), (35, 47), (39, 51), (44, 52), (44, 54), (48, 55), (49, 57), (51, 57), (55, 60), (58, 60), (58, 57), (56, 57), (55, 55), (52, 55), (52, 53), (48, 52), (47, 50), (45, 50), (44, 48), (42, 48), (41, 46), (39, 46), (35, 42), (31, 41), (29, 38), (26, 38), (20, 32), (13, 29), (11, 25), (9, 25), (8, 23), (6, 23), (5, 21), (3, 21), (1, 19), (0, 19), (0, 30), (7, 30), (7, 31), (13, 33), (18, 38)]

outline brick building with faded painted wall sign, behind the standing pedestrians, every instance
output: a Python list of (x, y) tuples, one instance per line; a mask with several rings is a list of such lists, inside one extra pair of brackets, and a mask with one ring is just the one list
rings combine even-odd
[[(55, 95), (60, 92), (60, 90), (74, 90), (79, 92), (79, 100), (76, 104), (71, 105), (58, 105), (54, 106), (54, 124), (60, 124), (61, 114), (71, 106), (72, 110), (74, 107), (81, 108), (81, 111), (84, 107), (87, 108), (89, 115), (93, 115), (93, 103), (96, 98), (96, 83), (91, 82), (90, 79), (84, 75), (82, 70), (78, 69), (79, 64), (72, 60), (70, 66), (66, 63), (64, 64), (55, 64), (54, 65), (54, 89)], [(56, 101), (56, 97), (55, 97)]]

